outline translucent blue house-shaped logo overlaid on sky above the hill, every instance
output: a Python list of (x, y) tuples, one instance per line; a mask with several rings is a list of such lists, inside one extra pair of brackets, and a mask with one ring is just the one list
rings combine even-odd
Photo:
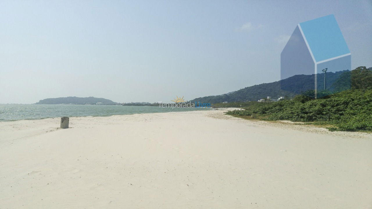
[[(315, 92), (323, 90), (323, 76), (317, 78), (317, 74), (325, 68), (328, 72), (351, 70), (351, 53), (334, 15), (299, 23), (280, 54), (280, 79), (315, 74), (311, 89)], [(290, 88), (295, 88), (285, 81), (280, 86), (292, 92)]]

